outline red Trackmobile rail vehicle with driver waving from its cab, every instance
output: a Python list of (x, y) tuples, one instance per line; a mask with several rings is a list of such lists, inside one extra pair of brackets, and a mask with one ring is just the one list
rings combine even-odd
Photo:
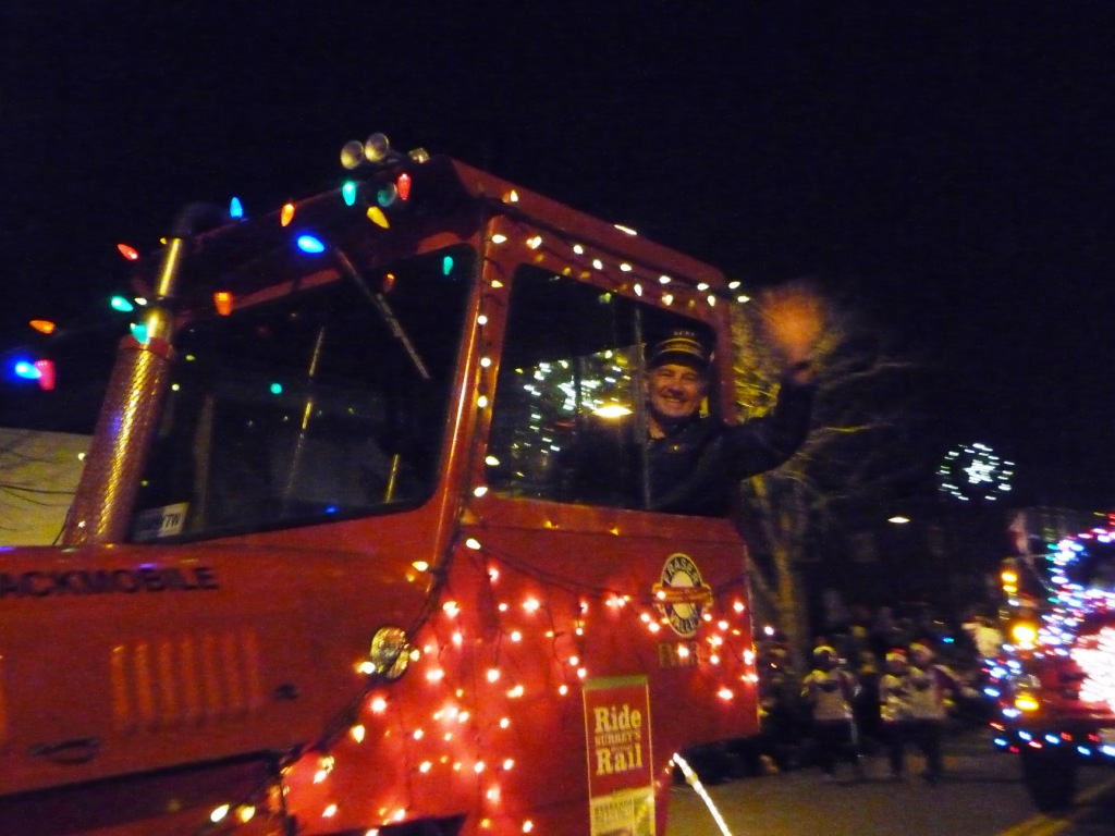
[(342, 162), (138, 262), (62, 545), (0, 552), (6, 833), (661, 834), (671, 756), (756, 731), (734, 526), (619, 457), (555, 478), (653, 334), (731, 356), (724, 276), (380, 135)]

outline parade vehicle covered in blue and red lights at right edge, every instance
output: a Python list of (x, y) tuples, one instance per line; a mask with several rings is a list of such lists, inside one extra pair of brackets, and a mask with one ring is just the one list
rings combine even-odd
[(1115, 766), (1115, 516), (1002, 570), (1010, 651), (996, 746), (1041, 809), (1072, 803), (1080, 766)]

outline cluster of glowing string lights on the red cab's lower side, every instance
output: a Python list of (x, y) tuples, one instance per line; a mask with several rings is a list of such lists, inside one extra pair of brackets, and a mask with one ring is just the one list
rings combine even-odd
[[(469, 553), (464, 552), (463, 554)], [(495, 554), (483, 550), (473, 562), (477, 579), (486, 579), (493, 594), (496, 590), (496, 580), (502, 574), (498, 571), (500, 564), (501, 560)], [(539, 583), (541, 584), (541, 581)], [(651, 614), (650, 607), (653, 606), (653, 601), (650, 595), (643, 593), (637, 597), (621, 592), (601, 593), (599, 602), (593, 595), (582, 593), (575, 605), (566, 611), (568, 618), (573, 620), (572, 624), (565, 626), (561, 623), (554, 624), (552, 621), (556, 613), (551, 611), (551, 602), (542, 594), (543, 589), (541, 585), (527, 584), (517, 593), (521, 597), (510, 602), (501, 602), (512, 605), (497, 607), (497, 611), (503, 613), (502, 620), (496, 625), (500, 633), (523, 641), (530, 638), (529, 633), (533, 633), (535, 636), (547, 636), (549, 641), (554, 640), (558, 635), (570, 635), (578, 631), (588, 633), (593, 626), (591, 621), (593, 612), (608, 613), (605, 624), (598, 626), (611, 630), (614, 629), (613, 619), (619, 616), (619, 611), (610, 604), (617, 601), (632, 605), (627, 618), (634, 618), (646, 624), (650, 633), (653, 634), (659, 628)], [(718, 631), (716, 634), (707, 636), (710, 645), (724, 643), (723, 634), (729, 632), (725, 628), (733, 625), (733, 619), (728, 618), (728, 613), (735, 613), (737, 620), (743, 619), (746, 622), (746, 610), (734, 606), (738, 603), (738, 601), (726, 602), (727, 612), (723, 614), (724, 616), (708, 622), (710, 628)], [(535, 624), (534, 622), (539, 621), (536, 616), (543, 612), (546, 613), (546, 616), (541, 619), (541, 623)], [(375, 820), (369, 823), (367, 811), (346, 810), (339, 807), (336, 794), (340, 791), (339, 787), (345, 786), (346, 778), (341, 777), (342, 775), (350, 778), (358, 774), (357, 771), (346, 774), (346, 764), (350, 759), (355, 762), (359, 757), (376, 757), (371, 751), (365, 756), (358, 756), (362, 745), (377, 737), (387, 739), (399, 736), (411, 741), (408, 743), (409, 746), (417, 747), (413, 750), (413, 760), (410, 760), (413, 764), (410, 767), (411, 776), (416, 780), (428, 780), (438, 784), (438, 786), (446, 780), (453, 781), (455, 782), (453, 786), (458, 788), (453, 791), (475, 791), (476, 797), (482, 798), (484, 803), (479, 817), (488, 823), (487, 829), (502, 827), (504, 829), (501, 832), (507, 832), (508, 827), (521, 829), (527, 825), (532, 830), (536, 829), (536, 825), (531, 824), (534, 822), (531, 818), (510, 818), (513, 815), (512, 810), (515, 809), (515, 803), (504, 781), (506, 776), (517, 768), (516, 756), (511, 750), (501, 749), (504, 745), (503, 741), (514, 745), (513, 738), (505, 738), (502, 735), (514, 725), (511, 717), (512, 710), (501, 715), (496, 708), (493, 719), (487, 720), (491, 723), (489, 733), (492, 737), (486, 738), (481, 747), (475, 747), (473, 741), (478, 731), (476, 723), (483, 721), (478, 717), (473, 717), (473, 713), (466, 708), (465, 700), (477, 699), (476, 694), (471, 693), (472, 689), (476, 687), (491, 689), (485, 690), (482, 701), (489, 707), (489, 711), (486, 711), (485, 715), (493, 716), (491, 713), (493, 700), (506, 700), (507, 708), (511, 709), (510, 703), (536, 699), (537, 692), (545, 689), (554, 689), (559, 696), (565, 696), (574, 688), (582, 688), (581, 683), (589, 675), (589, 671), (581, 664), (581, 657), (573, 653), (561, 658), (555, 657), (551, 662), (555, 665), (551, 673), (542, 670), (525, 674), (518, 661), (514, 658), (503, 658), (511, 651), (507, 649), (501, 651), (500, 642), (492, 644), (484, 642), (483, 645), (473, 642), (468, 629), (476, 626), (476, 624), (475, 613), (472, 612), (471, 607), (460, 601), (444, 602), (439, 612), (427, 624), (428, 635), (423, 639), (423, 642), (424, 651), (427, 654), (425, 659), (429, 661), (426, 663), (426, 669), (418, 674), (425, 683), (424, 687), (432, 689), (430, 694), (438, 707), (430, 712), (427, 722), (418, 720), (410, 723), (410, 728), (405, 728), (401, 725), (401, 716), (390, 708), (386, 696), (382, 693), (371, 696), (365, 703), (367, 713), (358, 718), (356, 725), (348, 728), (347, 735), (323, 747), (323, 754), (318, 755), (312, 760), (307, 759), (306, 762), (285, 771), (284, 781), (288, 785), (297, 782), (302, 787), (303, 793), (300, 795), (304, 795), (306, 785), (317, 788), (316, 795), (309, 799), (302, 799), (302, 809), (311, 813), (317, 810), (319, 815), (323, 815), (321, 810), (331, 810), (330, 817), (343, 820), (347, 825), (358, 820), (361, 823), (360, 826), (366, 828), (376, 826)], [(517, 625), (521, 625), (522, 629), (518, 629)], [(493, 650), (489, 651), (492, 655), (486, 667), (479, 669), (479, 684), (477, 686), (471, 678), (465, 680), (471, 684), (458, 682), (457, 678), (462, 675), (463, 669), (458, 670), (455, 660), (463, 660), (464, 658), (459, 655), (462, 653), (473, 652), (466, 648), (481, 647), (493, 648)], [(524, 645), (524, 650), (533, 655), (534, 647), (533, 643), (529, 643)], [(687, 652), (692, 651), (687, 647)], [(734, 649), (733, 653), (738, 659), (746, 659), (739, 649)], [(714, 667), (707, 668), (706, 671), (710, 678), (715, 678)], [(740, 679), (747, 675), (749, 674), (745, 671)], [(524, 677), (529, 678), (524, 679)], [(515, 681), (516, 679), (521, 679), (521, 681)], [(554, 681), (555, 679), (556, 681)], [(727, 679), (720, 682), (710, 679), (709, 687), (712, 689), (711, 692), (717, 694), (725, 704), (731, 703), (737, 697), (736, 692), (728, 686)], [(438, 700), (436, 694), (444, 694), (444, 699)], [(301, 772), (301, 778), (299, 778), (299, 772)], [(341, 781), (337, 788), (333, 787), (334, 780)], [(331, 795), (333, 798), (330, 798)], [(254, 801), (254, 799), (252, 800)], [(246, 805), (248, 801), (244, 804)], [(349, 803), (346, 806), (351, 807), (352, 805)], [(385, 797), (378, 813), (372, 811), (372, 815), (378, 818), (378, 826), (386, 826), (392, 822), (406, 820), (404, 809), (404, 807), (391, 803), (389, 797)], [(342, 819), (346, 815), (349, 818)], [(366, 829), (365, 832), (371, 830)]]

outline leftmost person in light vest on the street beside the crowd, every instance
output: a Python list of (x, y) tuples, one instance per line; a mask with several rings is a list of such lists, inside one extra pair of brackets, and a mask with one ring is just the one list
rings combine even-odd
[(864, 777), (852, 715), (857, 691), (855, 677), (840, 665), (836, 650), (827, 644), (815, 648), (813, 670), (802, 680), (802, 698), (813, 716), (814, 752), (826, 781), (835, 780), (838, 760), (847, 760), (857, 779)]

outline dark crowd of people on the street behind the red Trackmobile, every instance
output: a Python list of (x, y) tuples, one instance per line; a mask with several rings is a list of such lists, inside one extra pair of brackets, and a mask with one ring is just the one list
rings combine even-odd
[(826, 781), (846, 765), (864, 777), (864, 758), (885, 755), (890, 777), (905, 780), (908, 754), (924, 780), (943, 774), (947, 723), (988, 719), (978, 690), (985, 660), (998, 655), (995, 621), (972, 612), (950, 628), (927, 607), (899, 616), (860, 609), (818, 635), (804, 669), (777, 632), (759, 642), (760, 757), (768, 770), (817, 767)]

